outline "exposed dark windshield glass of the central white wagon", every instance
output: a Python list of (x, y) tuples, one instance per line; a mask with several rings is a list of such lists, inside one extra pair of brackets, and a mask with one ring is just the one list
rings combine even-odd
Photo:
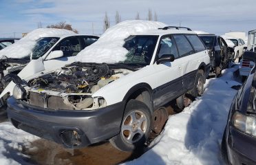
[(156, 47), (158, 36), (129, 36), (123, 47), (129, 52), (125, 61), (120, 63), (130, 65), (149, 65)]

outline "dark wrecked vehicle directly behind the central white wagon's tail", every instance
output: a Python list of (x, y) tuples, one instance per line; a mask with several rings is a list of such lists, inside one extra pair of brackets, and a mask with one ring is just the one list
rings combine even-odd
[(219, 77), (222, 69), (225, 69), (233, 59), (234, 49), (228, 47), (221, 36), (216, 36), (215, 34), (199, 34), (198, 36), (209, 50), (211, 72), (214, 72)]

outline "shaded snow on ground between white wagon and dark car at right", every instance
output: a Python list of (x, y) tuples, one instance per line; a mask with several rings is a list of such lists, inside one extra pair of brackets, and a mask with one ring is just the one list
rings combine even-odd
[(164, 131), (144, 155), (126, 164), (224, 164), (222, 133), (233, 97), (240, 85), (233, 78), (237, 68), (226, 69), (221, 78), (206, 80), (202, 97), (184, 111), (169, 116)]

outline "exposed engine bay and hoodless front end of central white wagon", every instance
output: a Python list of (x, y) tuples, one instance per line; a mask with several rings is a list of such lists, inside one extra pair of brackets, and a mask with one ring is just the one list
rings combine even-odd
[(45, 109), (98, 109), (105, 107), (107, 102), (102, 97), (93, 98), (92, 95), (130, 72), (129, 69), (113, 69), (107, 64), (74, 63), (28, 81), (24, 86), (26, 94), (17, 99)]

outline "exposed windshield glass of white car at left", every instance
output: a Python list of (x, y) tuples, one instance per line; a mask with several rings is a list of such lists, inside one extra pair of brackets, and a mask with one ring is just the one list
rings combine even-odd
[(43, 56), (58, 41), (58, 37), (45, 37), (36, 41), (32, 50), (32, 59), (38, 59)]

